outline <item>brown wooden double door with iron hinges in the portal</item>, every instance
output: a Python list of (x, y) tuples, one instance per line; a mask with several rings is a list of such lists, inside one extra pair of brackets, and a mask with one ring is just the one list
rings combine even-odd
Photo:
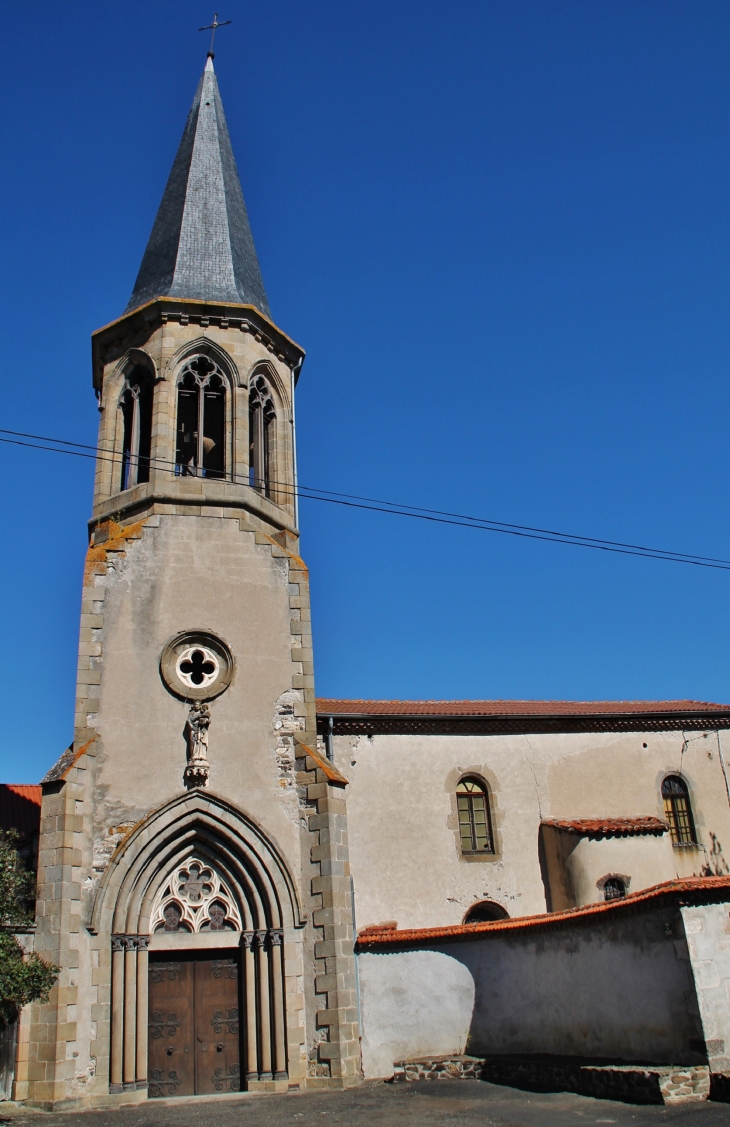
[(240, 990), (237, 950), (150, 955), (151, 1098), (241, 1090)]

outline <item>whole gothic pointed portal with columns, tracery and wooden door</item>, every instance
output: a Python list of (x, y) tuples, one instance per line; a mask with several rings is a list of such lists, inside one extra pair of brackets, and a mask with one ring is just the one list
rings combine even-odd
[(92, 913), (112, 940), (109, 1090), (285, 1080), (283, 942), (302, 926), (283, 858), (225, 800), (184, 795), (136, 826)]

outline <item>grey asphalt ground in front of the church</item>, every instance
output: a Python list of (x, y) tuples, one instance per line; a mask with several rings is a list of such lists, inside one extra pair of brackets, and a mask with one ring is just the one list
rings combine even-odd
[(114, 1110), (33, 1111), (0, 1103), (10, 1127), (588, 1127), (667, 1124), (730, 1127), (730, 1104), (642, 1106), (570, 1093), (522, 1092), (477, 1080), (363, 1084), (346, 1092), (290, 1092), (150, 1100)]

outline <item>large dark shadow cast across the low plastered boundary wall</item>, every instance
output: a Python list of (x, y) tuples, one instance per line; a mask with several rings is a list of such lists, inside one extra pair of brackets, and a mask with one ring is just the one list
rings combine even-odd
[(466, 1042), (472, 1054), (706, 1063), (675, 907), (496, 932), (452, 943), (443, 953), (474, 984)]

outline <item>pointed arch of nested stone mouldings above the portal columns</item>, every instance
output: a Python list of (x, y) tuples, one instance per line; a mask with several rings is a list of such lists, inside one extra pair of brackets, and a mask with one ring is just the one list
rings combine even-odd
[(119, 846), (99, 886), (90, 930), (149, 932), (162, 884), (194, 854), (226, 875), (246, 929), (304, 925), (296, 886), (276, 846), (225, 799), (196, 791), (155, 810)]

